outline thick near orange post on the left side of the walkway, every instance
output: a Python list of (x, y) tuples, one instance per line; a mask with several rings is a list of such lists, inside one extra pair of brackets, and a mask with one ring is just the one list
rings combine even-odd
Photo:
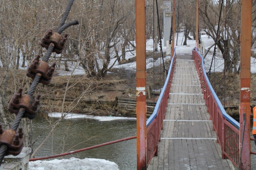
[(136, 0), (137, 170), (146, 170), (146, 16), (145, 0)]

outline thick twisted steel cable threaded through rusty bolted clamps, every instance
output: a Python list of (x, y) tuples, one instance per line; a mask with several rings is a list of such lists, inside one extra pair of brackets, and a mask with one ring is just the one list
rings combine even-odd
[[(68, 17), (68, 14), (71, 10), (73, 2), (74, 2), (74, 0), (69, 1), (68, 6), (65, 10), (65, 13), (63, 14), (63, 17), (61, 18), (60, 24), (57, 28), (57, 32), (60, 31), (60, 33), (62, 33), (69, 26), (78, 24), (77, 20), (73, 20), (73, 21), (65, 24), (66, 18)], [(48, 47), (47, 52), (46, 52), (42, 61), (47, 62), (49, 60), (53, 49), (54, 49), (54, 45), (51, 43), (50, 46)], [(35, 91), (35, 89), (37, 87), (37, 84), (39, 83), (40, 79), (41, 79), (41, 75), (37, 74), (35, 76), (34, 80), (32, 81), (32, 84), (31, 84), (31, 86), (29, 88), (29, 91), (28, 91), (28, 94), (30, 96), (32, 96), (34, 94), (34, 91)], [(13, 129), (14, 131), (16, 131), (18, 129), (18, 126), (21, 122), (21, 119), (24, 117), (25, 112), (26, 111), (25, 111), (24, 108), (19, 109), (19, 112), (18, 112), (15, 120), (13, 121), (13, 124), (11, 125), (10, 129)], [(4, 156), (7, 154), (7, 152), (8, 152), (8, 147), (6, 145), (1, 145), (1, 147), (0, 147), (0, 165), (2, 164)]]

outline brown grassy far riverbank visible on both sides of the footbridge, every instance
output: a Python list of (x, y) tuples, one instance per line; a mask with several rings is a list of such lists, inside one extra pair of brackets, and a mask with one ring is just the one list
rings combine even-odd
[[(132, 63), (133, 60), (134, 58), (127, 63)], [(165, 64), (168, 65), (169, 61), (166, 58)], [(254, 107), (256, 74), (251, 77), (251, 107)], [(239, 74), (227, 73), (225, 76), (222, 72), (216, 72), (209, 79), (227, 114), (239, 119)], [(147, 117), (154, 110), (159, 96), (157, 89), (162, 84), (162, 66), (147, 69), (147, 86), (151, 86), (153, 95), (151, 99), (147, 95)], [(43, 113), (72, 112), (94, 116), (136, 117), (136, 74), (133, 70), (112, 69), (110, 74), (102, 78), (83, 75), (55, 76), (51, 84), (42, 87), (39, 92), (42, 94), (40, 111)]]

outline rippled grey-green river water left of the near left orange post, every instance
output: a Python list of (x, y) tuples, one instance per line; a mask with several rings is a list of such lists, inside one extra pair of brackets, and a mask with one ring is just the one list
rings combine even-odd
[[(41, 130), (48, 125), (49, 122), (46, 119), (37, 117), (33, 121), (33, 139), (36, 139)], [(44, 130), (44, 134), (40, 137), (41, 140), (34, 145), (34, 150), (41, 141), (44, 140), (48, 134), (47, 132), (50, 132), (50, 128)], [(134, 120), (109, 122), (99, 122), (91, 119), (63, 120), (44, 146), (40, 148), (35, 157), (50, 156), (62, 152), (78, 150), (135, 135), (136, 121)], [(118, 164), (120, 170), (135, 170), (136, 139), (59, 157), (58, 159), (67, 159), (70, 157), (80, 159), (89, 157), (110, 160)]]

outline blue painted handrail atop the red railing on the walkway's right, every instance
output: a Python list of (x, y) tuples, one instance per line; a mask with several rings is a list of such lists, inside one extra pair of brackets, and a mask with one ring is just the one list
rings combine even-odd
[(203, 69), (204, 77), (207, 81), (207, 84), (209, 86), (209, 89), (212, 92), (212, 95), (213, 95), (215, 101), (217, 102), (217, 105), (219, 107), (220, 112), (222, 112), (222, 116), (225, 117), (227, 119), (227, 121), (230, 122), (232, 125), (234, 125), (236, 128), (240, 129), (240, 124), (235, 119), (233, 119), (230, 115), (228, 115), (226, 113), (224, 107), (222, 106), (221, 102), (219, 101), (218, 96), (216, 95), (214, 89), (212, 88), (212, 85), (210, 84), (210, 81), (209, 81), (209, 79), (206, 75), (206, 71), (204, 69), (204, 58), (201, 56), (201, 54), (198, 52), (198, 50), (196, 48), (194, 48), (193, 50), (195, 50), (199, 54), (199, 56), (201, 57), (201, 60), (202, 60), (201, 63), (202, 63), (202, 69)]

